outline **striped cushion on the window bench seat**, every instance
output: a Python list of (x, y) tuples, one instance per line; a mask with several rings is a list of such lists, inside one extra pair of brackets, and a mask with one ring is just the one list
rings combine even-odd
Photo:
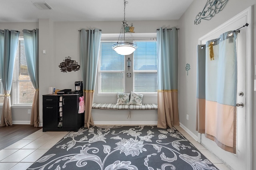
[(112, 109), (112, 110), (157, 110), (157, 104), (142, 104), (140, 105), (116, 105), (110, 103), (93, 103), (92, 109)]

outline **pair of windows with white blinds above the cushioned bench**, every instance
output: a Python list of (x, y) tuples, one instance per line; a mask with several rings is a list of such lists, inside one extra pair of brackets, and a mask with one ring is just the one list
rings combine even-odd
[[(126, 60), (112, 49), (116, 42), (101, 41), (98, 65), (99, 94), (133, 92), (156, 94), (157, 92), (157, 51), (156, 41), (136, 41), (138, 48), (133, 53), (132, 81), (125, 82)], [(126, 71), (126, 72), (125, 72)]]

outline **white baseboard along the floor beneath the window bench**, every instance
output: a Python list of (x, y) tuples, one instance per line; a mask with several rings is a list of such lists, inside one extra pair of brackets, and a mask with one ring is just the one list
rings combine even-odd
[(94, 125), (157, 125), (157, 121), (94, 121)]

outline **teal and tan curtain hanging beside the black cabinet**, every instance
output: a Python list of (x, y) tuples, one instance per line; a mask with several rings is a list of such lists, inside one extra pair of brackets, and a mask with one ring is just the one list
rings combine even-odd
[(95, 90), (98, 56), (100, 51), (101, 30), (80, 31), (80, 66), (84, 84), (85, 112), (84, 127), (94, 125), (92, 119), (92, 101)]

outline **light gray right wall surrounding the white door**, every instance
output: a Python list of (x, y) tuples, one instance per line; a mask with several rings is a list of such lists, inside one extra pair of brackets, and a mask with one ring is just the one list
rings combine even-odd
[[(198, 39), (205, 35), (206, 33), (212, 31), (214, 28), (218, 27), (225, 21), (228, 21), (233, 16), (236, 16), (249, 6), (253, 5), (253, 22), (249, 23), (253, 29), (253, 56), (254, 63), (253, 67), (253, 77), (256, 79), (255, 65), (256, 65), (256, 13), (255, 13), (255, 0), (230, 0), (226, 7), (216, 14), (211, 20), (202, 20), (199, 25), (194, 24), (196, 15), (198, 12), (202, 12), (206, 1), (194, 0), (190, 7), (186, 10), (184, 15), (179, 20), (179, 114), (180, 114), (180, 123), (188, 129), (192, 135), (197, 136), (196, 131), (196, 54), (197, 54), (197, 44)], [(241, 25), (242, 26), (242, 25)], [(185, 70), (186, 63), (190, 64), (191, 70), (187, 72)], [(253, 122), (256, 122), (256, 92), (253, 92), (254, 106), (253, 106)], [(189, 120), (186, 120), (186, 114), (189, 115)], [(256, 124), (253, 123), (253, 159), (254, 159), (254, 168), (256, 169)]]

